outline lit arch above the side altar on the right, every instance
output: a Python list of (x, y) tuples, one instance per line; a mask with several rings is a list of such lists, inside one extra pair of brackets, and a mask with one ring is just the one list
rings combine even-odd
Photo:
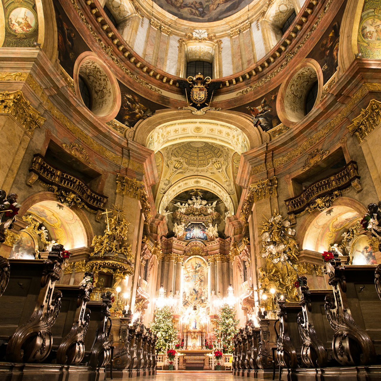
[(300, 240), (303, 250), (327, 251), (331, 243), (341, 241), (341, 234), (367, 212), (362, 203), (349, 197), (335, 200), (330, 210), (329, 214), (327, 210), (316, 210), (304, 220), (298, 233), (303, 237)]

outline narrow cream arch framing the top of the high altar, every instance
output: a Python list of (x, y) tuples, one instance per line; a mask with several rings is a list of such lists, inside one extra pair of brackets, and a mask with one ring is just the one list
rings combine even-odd
[[(195, 187), (199, 189), (205, 189), (207, 191), (213, 192), (218, 195), (219, 198), (224, 202), (227, 210), (231, 215), (234, 215), (234, 205), (231, 197), (227, 191), (212, 179), (204, 178), (201, 176), (192, 176), (181, 179), (174, 183), (168, 191), (165, 192), (162, 199), (160, 200), (160, 205), (158, 206), (158, 212), (162, 214), (171, 200), (178, 194), (184, 191), (189, 191), (189, 189), (194, 189)], [(159, 202), (159, 200), (157, 200)]]

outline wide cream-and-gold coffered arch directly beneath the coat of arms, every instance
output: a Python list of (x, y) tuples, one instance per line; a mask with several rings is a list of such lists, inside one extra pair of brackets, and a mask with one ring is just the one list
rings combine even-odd
[(127, 134), (155, 152), (175, 142), (202, 140), (242, 153), (268, 140), (267, 134), (253, 126), (249, 115), (236, 111), (210, 110), (200, 117), (187, 110), (162, 110), (138, 122), (136, 130)]

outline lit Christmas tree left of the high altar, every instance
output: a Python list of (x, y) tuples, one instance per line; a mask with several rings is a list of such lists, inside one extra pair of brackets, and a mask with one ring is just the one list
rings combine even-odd
[(162, 352), (166, 348), (173, 349), (177, 342), (177, 330), (172, 320), (170, 307), (156, 309), (151, 330), (157, 335), (156, 348)]

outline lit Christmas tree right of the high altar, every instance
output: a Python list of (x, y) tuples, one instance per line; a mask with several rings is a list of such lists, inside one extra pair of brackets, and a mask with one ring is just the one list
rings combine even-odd
[(235, 318), (235, 309), (225, 304), (217, 315), (216, 336), (224, 353), (233, 353), (233, 336), (237, 333), (239, 321)]

